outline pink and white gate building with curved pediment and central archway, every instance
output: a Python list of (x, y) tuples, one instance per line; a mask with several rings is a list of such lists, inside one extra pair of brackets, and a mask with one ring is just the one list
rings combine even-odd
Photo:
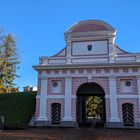
[(35, 124), (140, 128), (140, 54), (120, 49), (104, 21), (80, 21), (64, 35), (66, 47), (33, 66)]

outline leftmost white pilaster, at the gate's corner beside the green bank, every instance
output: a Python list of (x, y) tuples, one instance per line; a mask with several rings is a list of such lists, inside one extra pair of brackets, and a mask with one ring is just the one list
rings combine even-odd
[(47, 121), (46, 116), (46, 97), (47, 97), (47, 78), (41, 79), (40, 107), (38, 121)]

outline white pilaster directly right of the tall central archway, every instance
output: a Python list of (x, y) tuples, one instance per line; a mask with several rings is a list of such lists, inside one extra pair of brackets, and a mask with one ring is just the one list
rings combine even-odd
[(117, 89), (116, 77), (109, 77), (109, 92), (110, 92), (110, 122), (120, 122), (118, 117), (118, 104), (117, 104)]

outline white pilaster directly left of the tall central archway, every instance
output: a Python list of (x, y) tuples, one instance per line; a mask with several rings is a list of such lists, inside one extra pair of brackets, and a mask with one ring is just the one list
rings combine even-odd
[(63, 121), (72, 121), (71, 117), (71, 92), (72, 92), (72, 78), (65, 77), (65, 107)]

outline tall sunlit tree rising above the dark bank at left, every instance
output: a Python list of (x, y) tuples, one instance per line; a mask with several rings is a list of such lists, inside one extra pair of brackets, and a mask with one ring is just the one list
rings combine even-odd
[(7, 93), (14, 88), (19, 59), (13, 36), (0, 34), (0, 93)]

